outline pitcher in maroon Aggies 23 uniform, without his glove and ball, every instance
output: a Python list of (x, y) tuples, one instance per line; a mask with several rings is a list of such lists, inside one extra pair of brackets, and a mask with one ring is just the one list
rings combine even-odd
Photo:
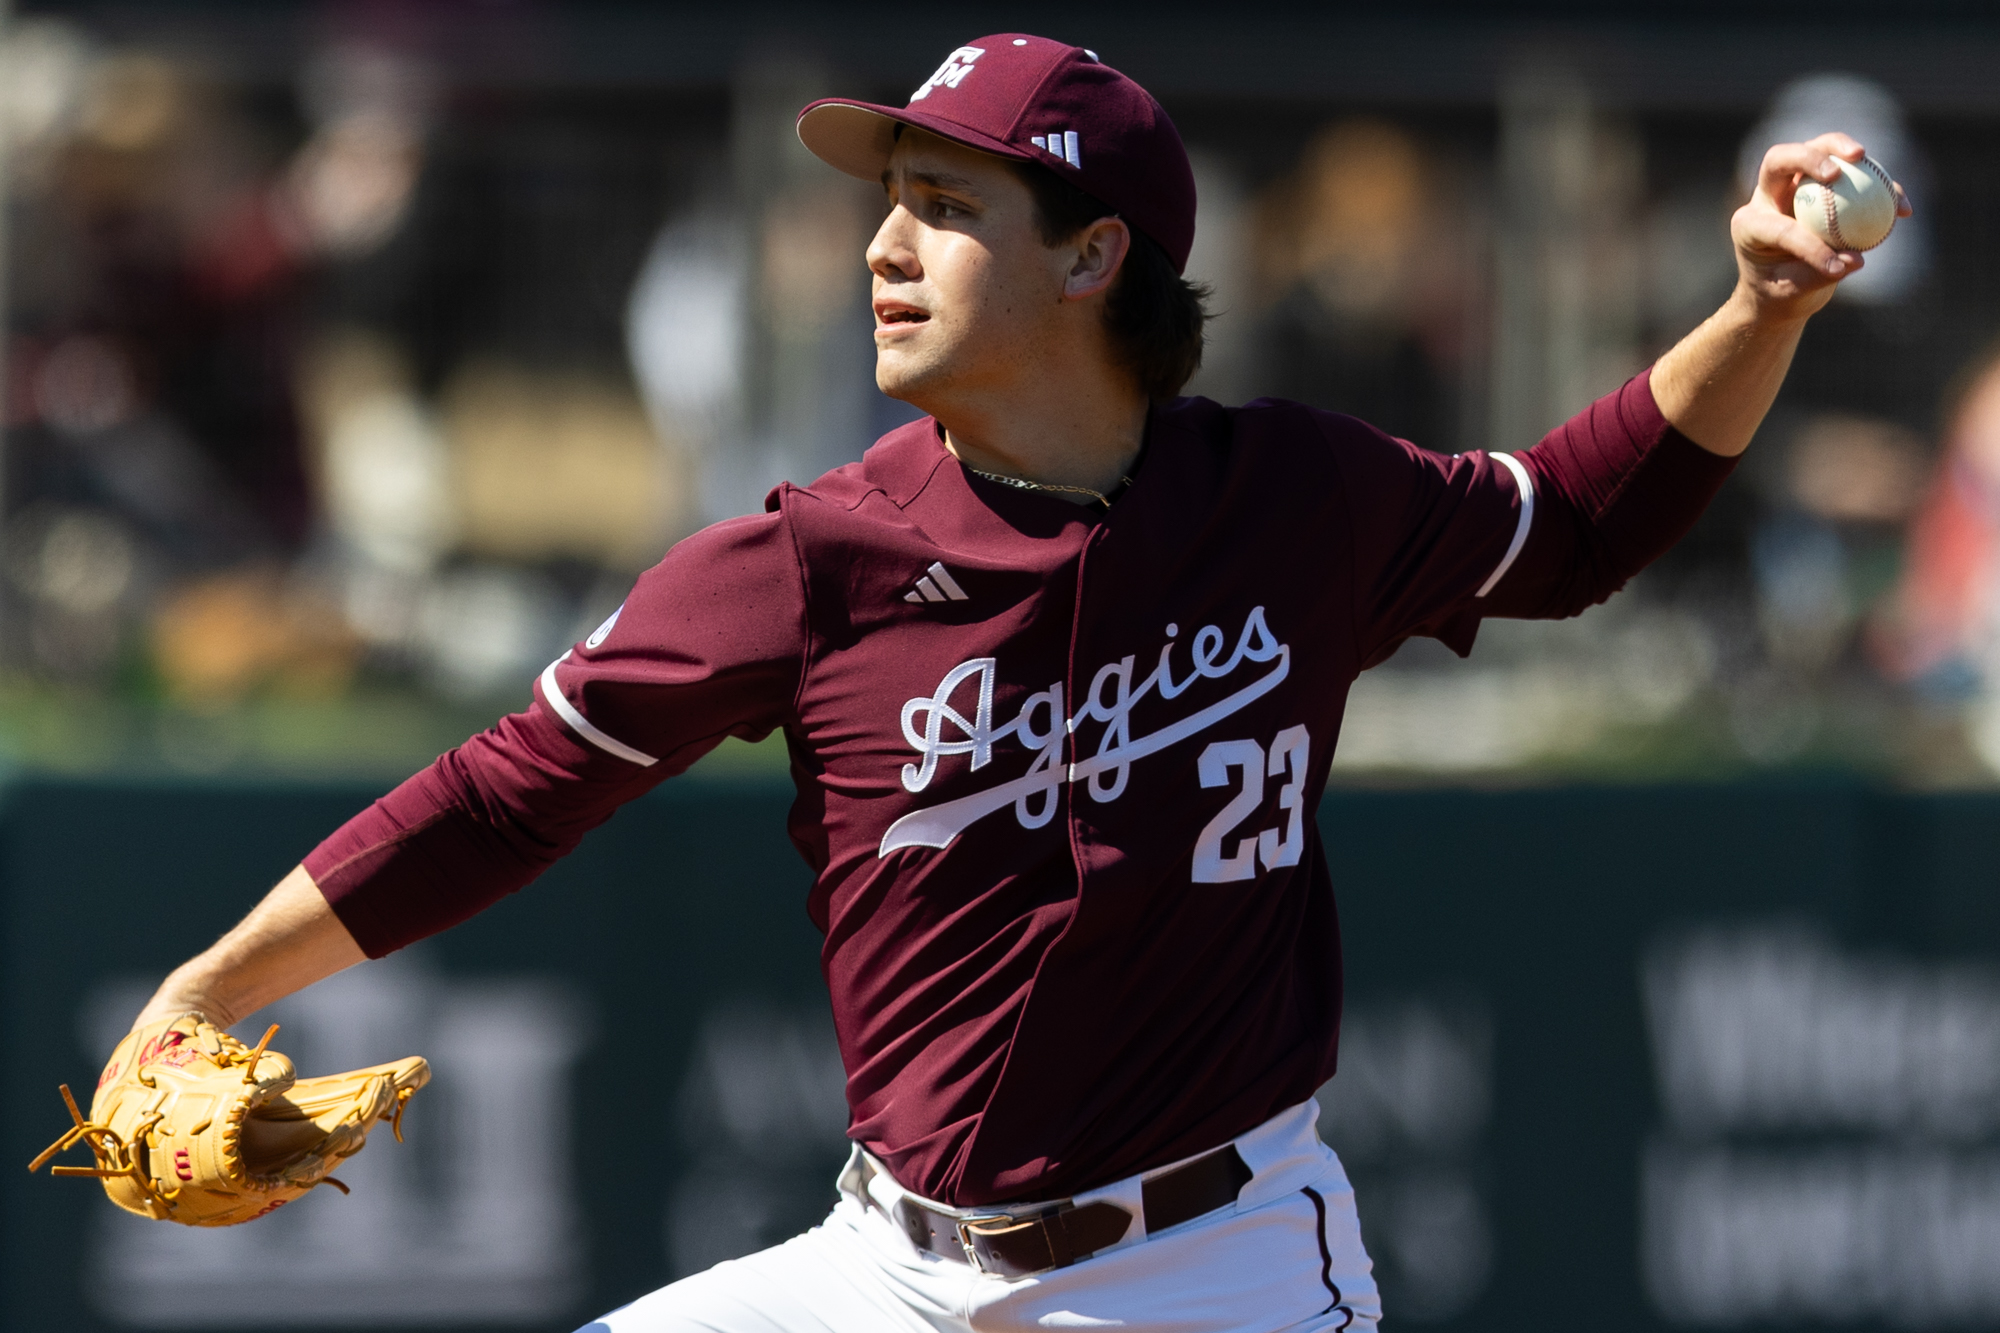
[(1790, 216), (1862, 148), (1766, 154), (1734, 294), (1650, 370), (1518, 454), (1442, 456), (1176, 396), (1206, 318), (1194, 178), (1090, 50), (978, 38), (908, 106), (814, 102), (798, 132), (886, 188), (876, 382), (928, 416), (674, 546), (528, 711), (336, 831), (140, 1029), (214, 1047), (782, 731), (848, 1071), (838, 1203), (590, 1329), (1374, 1325), (1312, 1101), (1340, 1031), (1312, 815), (1348, 687), (1412, 634), (1468, 652), (1482, 616), (1576, 614), (1686, 532), (1862, 264)]

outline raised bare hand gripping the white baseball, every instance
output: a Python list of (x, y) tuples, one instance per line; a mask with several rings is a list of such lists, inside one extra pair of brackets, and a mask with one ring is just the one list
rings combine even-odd
[[(1802, 320), (1834, 296), (1842, 278), (1860, 270), (1862, 256), (1834, 250), (1792, 216), (1802, 180), (1832, 182), (1834, 158), (1862, 160), (1846, 134), (1820, 134), (1804, 144), (1776, 144), (1758, 168), (1756, 192), (1730, 218), (1736, 242), (1736, 292), (1760, 318)], [(1896, 216), (1910, 216), (1910, 198), (1896, 186)]]

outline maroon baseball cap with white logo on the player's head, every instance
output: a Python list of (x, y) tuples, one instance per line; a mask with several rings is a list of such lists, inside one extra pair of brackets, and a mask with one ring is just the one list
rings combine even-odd
[(798, 114), (798, 138), (846, 174), (880, 180), (898, 124), (1046, 166), (1160, 242), (1176, 272), (1188, 266), (1194, 170), (1180, 130), (1096, 52), (1022, 32), (976, 38), (908, 106), (826, 98)]

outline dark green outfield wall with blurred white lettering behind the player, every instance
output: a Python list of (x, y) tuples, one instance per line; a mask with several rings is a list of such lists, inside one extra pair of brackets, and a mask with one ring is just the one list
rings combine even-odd
[[(140, 989), (370, 795), (8, 793), (16, 1163)], [(786, 799), (670, 785), (280, 1009), (308, 1073), (436, 1065), (350, 1199), (194, 1233), (12, 1167), (0, 1319), (568, 1329), (808, 1225), (840, 1083)], [(1326, 1133), (1398, 1323), (2000, 1327), (2000, 799), (1336, 793), (1320, 827), (1352, 1005)]]

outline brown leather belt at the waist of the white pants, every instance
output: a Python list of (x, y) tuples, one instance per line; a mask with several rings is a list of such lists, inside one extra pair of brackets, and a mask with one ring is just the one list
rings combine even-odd
[[(862, 1157), (862, 1197), (868, 1197), (868, 1175), (874, 1169), (874, 1163)], [(1250, 1175), (1242, 1153), (1230, 1143), (1144, 1181), (1140, 1201), (1146, 1209), (1146, 1235), (1236, 1203)], [(940, 1259), (970, 1263), (980, 1273), (996, 1277), (1032, 1277), (1048, 1269), (1066, 1269), (1116, 1245), (1132, 1229), (1132, 1215), (1116, 1203), (1076, 1207), (1068, 1199), (1044, 1203), (1032, 1213), (954, 1215), (902, 1197), (896, 1201), (892, 1221), (918, 1249)]]

